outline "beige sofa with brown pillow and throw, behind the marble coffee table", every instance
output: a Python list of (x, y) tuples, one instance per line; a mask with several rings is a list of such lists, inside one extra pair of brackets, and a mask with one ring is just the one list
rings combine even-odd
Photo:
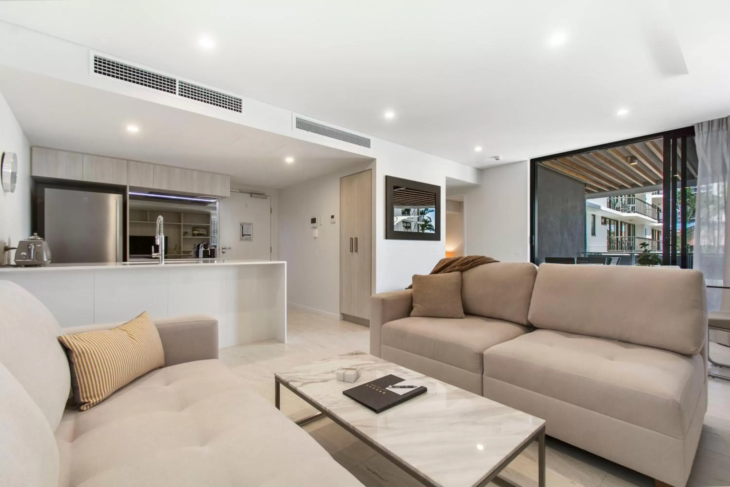
[(495, 263), (462, 273), (465, 319), (372, 298), (370, 351), (547, 421), (579, 448), (683, 487), (707, 410), (699, 271)]

